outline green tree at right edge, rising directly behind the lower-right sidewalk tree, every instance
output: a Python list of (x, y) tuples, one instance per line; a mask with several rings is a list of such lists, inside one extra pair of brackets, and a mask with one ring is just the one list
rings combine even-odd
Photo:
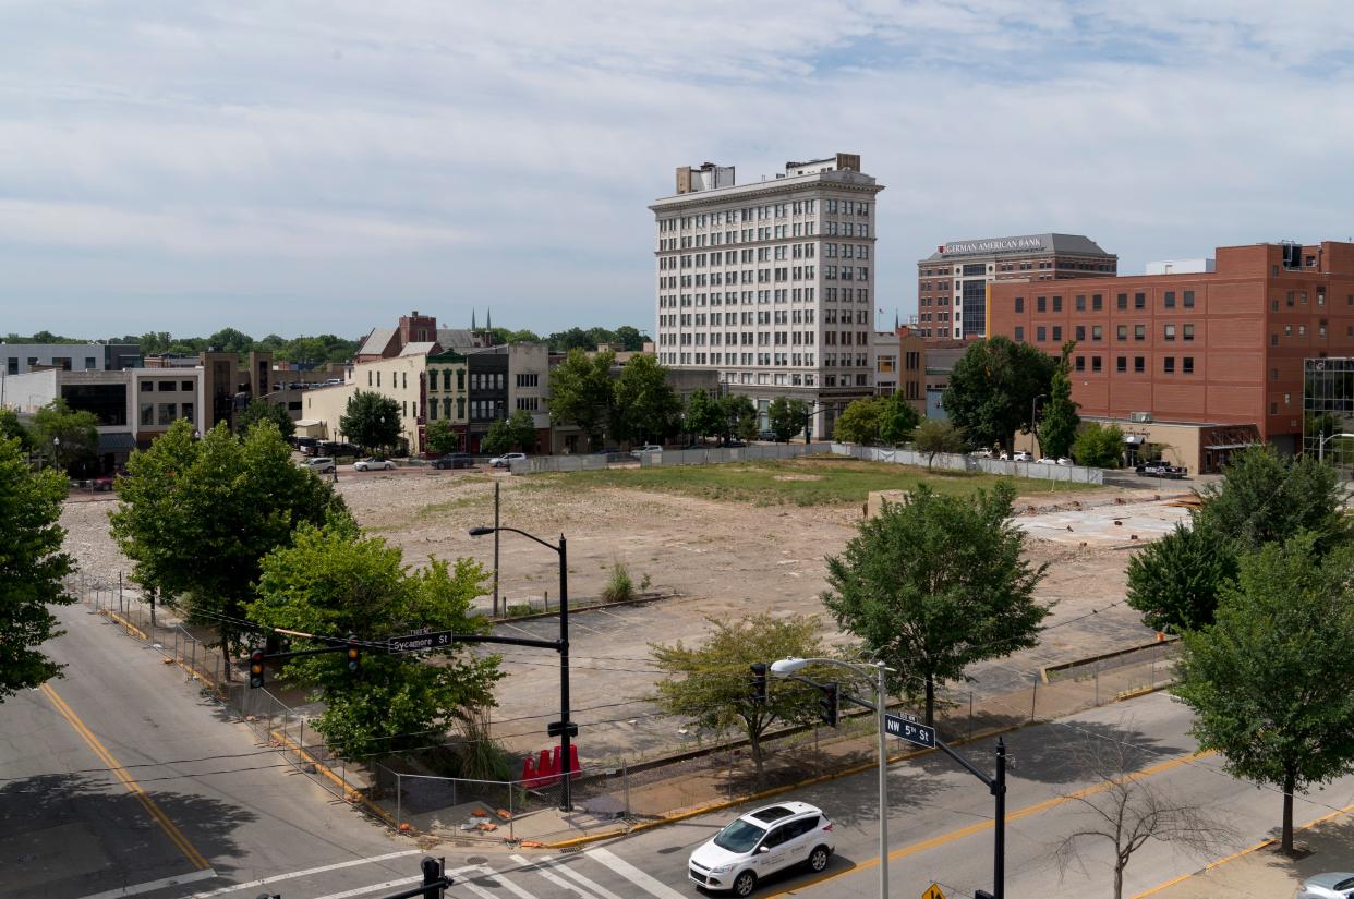
[(1223, 479), (1198, 496), (1204, 501), (1198, 520), (1244, 550), (1311, 531), (1324, 552), (1351, 536), (1335, 468), (1313, 456), (1280, 458), (1269, 444), (1232, 456)]

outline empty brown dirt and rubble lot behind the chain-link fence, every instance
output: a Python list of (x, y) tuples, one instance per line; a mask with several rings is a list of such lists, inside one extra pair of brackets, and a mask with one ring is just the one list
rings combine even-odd
[[(867, 463), (853, 463), (867, 464)], [(898, 473), (903, 471), (886, 467)], [(819, 478), (814, 463), (789, 470), (789, 479)], [(915, 478), (917, 473), (907, 473)], [(831, 477), (830, 473), (826, 477)], [(891, 473), (886, 475), (894, 477)], [(795, 505), (784, 498), (704, 498), (668, 491), (636, 490), (616, 482), (589, 482), (573, 475), (512, 477), (482, 471), (344, 474), (338, 490), (357, 520), (418, 565), (427, 556), (473, 556), (490, 567), (493, 538), (471, 538), (471, 527), (493, 524), (494, 483), (501, 485), (501, 523), (554, 540), (569, 539), (571, 605), (584, 605), (601, 592), (615, 562), (624, 563), (636, 586), (649, 579), (649, 592), (677, 594), (645, 605), (612, 607), (571, 616), (573, 705), (580, 722), (585, 762), (626, 754), (631, 758), (674, 745), (691, 743), (693, 734), (653, 716), (639, 701), (655, 672), (649, 662), (650, 642), (699, 639), (705, 616), (822, 613), (825, 555), (842, 550), (861, 516), (860, 502)], [(1078, 490), (1049, 493), (1048, 485), (1026, 483), (1032, 493), (1017, 502), (1021, 520), (1032, 527), (1030, 558), (1051, 562), (1039, 596), (1052, 604), (1041, 646), (1028, 653), (979, 666), (974, 674), (980, 693), (1002, 692), (1014, 681), (1034, 677), (1041, 665), (1067, 661), (1151, 639), (1137, 615), (1122, 604), (1124, 565), (1129, 550), (1106, 540), (1086, 547), (1066, 532), (1078, 516), (1124, 517), (1132, 529), (1135, 510), (1148, 513), (1150, 490)], [(1106, 509), (1116, 497), (1113, 513)], [(1145, 501), (1145, 502), (1144, 502)], [(766, 505), (765, 502), (773, 502)], [(1082, 506), (1078, 510), (1074, 504)], [(1139, 505), (1143, 504), (1143, 505)], [(68, 546), (85, 571), (115, 581), (129, 570), (107, 536), (108, 502), (68, 504), (64, 524)], [(1059, 539), (1033, 536), (1052, 521)], [(1047, 531), (1045, 531), (1047, 532)], [(1116, 528), (1117, 532), (1117, 528)], [(1066, 535), (1066, 538), (1063, 536)], [(1144, 531), (1143, 539), (1148, 539)], [(1128, 535), (1124, 536), (1124, 544)], [(548, 592), (558, 598), (555, 554), (513, 533), (502, 535), (501, 593), (505, 602), (527, 597), (538, 602)], [(487, 605), (489, 597), (483, 598)], [(502, 634), (552, 638), (554, 617), (508, 623)], [(830, 619), (823, 627), (835, 642)], [(546, 745), (544, 723), (558, 718), (558, 661), (552, 653), (508, 647), (509, 672), (498, 689), (496, 731), (516, 749)], [(964, 686), (963, 689), (968, 689)]]

